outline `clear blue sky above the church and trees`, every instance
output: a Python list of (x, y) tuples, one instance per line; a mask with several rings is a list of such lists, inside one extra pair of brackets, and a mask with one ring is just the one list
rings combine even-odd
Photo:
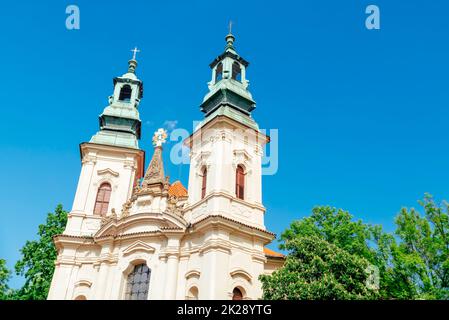
[[(97, 131), (129, 50), (142, 49), (148, 161), (165, 121), (201, 120), (229, 19), (251, 63), (253, 116), (279, 129), (279, 171), (263, 178), (271, 231), (325, 204), (393, 230), (400, 208), (425, 192), (449, 199), (447, 1), (73, 3), (77, 31), (65, 28), (69, 2), (0, 4), (0, 257), (10, 268), (47, 212), (71, 208), (78, 145)], [(379, 31), (365, 28), (369, 4), (380, 7)], [(165, 159), (186, 184), (188, 167)]]

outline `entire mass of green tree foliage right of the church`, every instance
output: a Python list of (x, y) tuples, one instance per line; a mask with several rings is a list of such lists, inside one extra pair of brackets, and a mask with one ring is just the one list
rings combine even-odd
[[(387, 234), (380, 226), (354, 221), (349, 212), (332, 207), (316, 207), (311, 216), (294, 221), (281, 235), (280, 247), (289, 252), (283, 268), (271, 276), (261, 277), (264, 297), (267, 299), (353, 299), (371, 298), (374, 293), (357, 291), (357, 294), (342, 294), (343, 291), (330, 291), (333, 297), (318, 290), (321, 286), (338, 283), (345, 287), (341, 279), (335, 277), (342, 265), (320, 265), (328, 276), (310, 281), (309, 272), (316, 270), (314, 260), (304, 260), (307, 250), (309, 256), (320, 261), (325, 254), (324, 245), (332, 250), (343, 250), (354, 259), (365, 261), (379, 271), (379, 288), (375, 296), (379, 299), (448, 299), (449, 298), (449, 205), (437, 205), (431, 196), (426, 195), (420, 204), (424, 208), (421, 215), (415, 209), (403, 208), (395, 219), (396, 231)], [(305, 246), (304, 241), (322, 240), (318, 246)], [(316, 251), (318, 250), (318, 251)], [(302, 255), (298, 255), (302, 252)], [(337, 251), (336, 251), (337, 252)], [(326, 256), (326, 255), (324, 255)], [(339, 257), (345, 255), (339, 252)], [(356, 260), (362, 259), (362, 260)], [(342, 264), (349, 260), (341, 258)], [(298, 269), (301, 263), (304, 268)], [(348, 265), (348, 271), (359, 270)], [(363, 278), (350, 275), (352, 279)], [(331, 278), (329, 278), (331, 277)], [(286, 285), (295, 280), (296, 284)], [(299, 292), (301, 291), (301, 292)], [(349, 291), (351, 292), (351, 291)]]

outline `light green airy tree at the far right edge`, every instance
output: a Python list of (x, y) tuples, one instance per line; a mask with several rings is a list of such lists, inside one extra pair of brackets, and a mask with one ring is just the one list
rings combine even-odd
[(426, 195), (415, 209), (395, 219), (398, 243), (392, 245), (395, 283), (408, 299), (449, 299), (449, 205)]

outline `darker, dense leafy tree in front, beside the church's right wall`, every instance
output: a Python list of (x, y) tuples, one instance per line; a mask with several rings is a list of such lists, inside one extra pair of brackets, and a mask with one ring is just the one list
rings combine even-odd
[(286, 242), (289, 255), (283, 268), (262, 275), (264, 299), (374, 299), (366, 283), (368, 261), (317, 236)]

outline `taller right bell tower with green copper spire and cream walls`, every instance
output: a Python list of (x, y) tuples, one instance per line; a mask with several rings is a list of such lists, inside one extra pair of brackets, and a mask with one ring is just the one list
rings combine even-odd
[(200, 110), (204, 120), (185, 140), (190, 148), (187, 220), (209, 215), (265, 229), (262, 150), (269, 137), (252, 117), (256, 103), (246, 77), (248, 61), (225, 37), (224, 52), (210, 64), (211, 81)]

